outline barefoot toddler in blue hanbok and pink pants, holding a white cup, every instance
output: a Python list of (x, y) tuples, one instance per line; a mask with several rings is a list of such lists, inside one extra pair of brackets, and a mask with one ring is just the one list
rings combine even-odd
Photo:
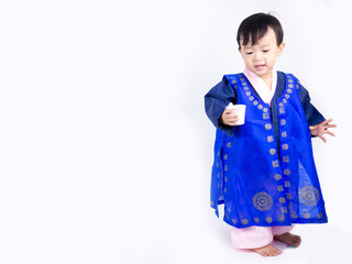
[[(263, 256), (280, 251), (273, 239), (298, 246), (294, 223), (328, 221), (312, 156), (311, 136), (334, 135), (310, 103), (308, 91), (292, 74), (274, 70), (283, 53), (283, 29), (276, 18), (257, 13), (238, 31), (243, 74), (226, 75), (205, 97), (206, 112), (217, 128), (211, 207), (232, 226), (237, 249)], [(224, 110), (246, 105), (245, 123)]]

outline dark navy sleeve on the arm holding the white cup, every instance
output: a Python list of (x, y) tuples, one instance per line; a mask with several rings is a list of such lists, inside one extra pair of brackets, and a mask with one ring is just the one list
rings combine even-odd
[(233, 127), (221, 122), (222, 112), (230, 102), (237, 102), (237, 95), (229, 81), (223, 78), (205, 96), (206, 113), (213, 125), (231, 135)]

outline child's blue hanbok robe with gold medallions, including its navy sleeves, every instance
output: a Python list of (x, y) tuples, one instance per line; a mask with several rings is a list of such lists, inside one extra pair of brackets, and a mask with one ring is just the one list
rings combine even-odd
[[(224, 204), (223, 220), (235, 228), (328, 221), (307, 122), (323, 117), (312, 106), (305, 109), (309, 95), (296, 77), (278, 76), (272, 109), (242, 74), (224, 76), (206, 96), (208, 117), (218, 127), (211, 207), (219, 216), (218, 205)], [(233, 92), (223, 88), (229, 86)], [(226, 90), (222, 98), (213, 96), (219, 89)], [(219, 123), (228, 101), (246, 105), (243, 125)]]

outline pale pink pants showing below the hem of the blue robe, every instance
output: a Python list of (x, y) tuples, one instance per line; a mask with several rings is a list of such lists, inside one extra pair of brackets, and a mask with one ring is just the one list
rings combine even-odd
[(237, 229), (231, 227), (231, 241), (235, 249), (256, 249), (273, 242), (274, 235), (289, 232), (294, 227), (251, 227)]

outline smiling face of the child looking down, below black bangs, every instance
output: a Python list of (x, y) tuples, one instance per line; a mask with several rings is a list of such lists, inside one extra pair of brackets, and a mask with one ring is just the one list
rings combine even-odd
[[(242, 38), (241, 38), (242, 43)], [(282, 55), (285, 43), (277, 46), (275, 32), (267, 28), (265, 35), (252, 45), (250, 41), (246, 45), (241, 44), (239, 50), (245, 66), (262, 79), (272, 78), (276, 59)]]

